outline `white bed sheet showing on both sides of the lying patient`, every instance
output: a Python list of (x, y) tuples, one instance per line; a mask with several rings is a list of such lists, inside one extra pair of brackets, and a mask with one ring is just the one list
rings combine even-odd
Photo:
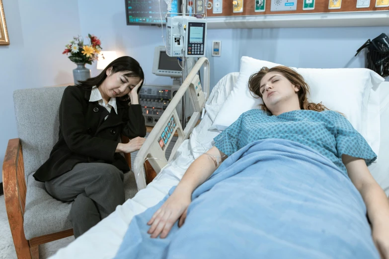
[[(167, 166), (134, 198), (118, 206), (111, 215), (96, 226), (88, 230), (66, 248), (60, 249), (50, 259), (78, 259), (78, 258), (113, 258), (122, 243), (132, 218), (158, 203), (171, 189), (178, 184), (186, 168), (195, 159), (191, 147), (210, 147), (213, 138), (218, 134), (208, 130), (219, 112), (227, 96), (235, 84), (238, 73), (230, 73), (222, 78), (214, 87), (207, 101), (207, 113), (201, 123), (193, 130), (189, 140), (185, 140), (177, 150), (173, 163)], [(389, 82), (385, 89), (380, 89), (381, 99), (381, 145), (380, 158), (370, 166), (370, 170), (378, 183), (389, 194)], [(384, 88), (384, 87), (380, 87)]]

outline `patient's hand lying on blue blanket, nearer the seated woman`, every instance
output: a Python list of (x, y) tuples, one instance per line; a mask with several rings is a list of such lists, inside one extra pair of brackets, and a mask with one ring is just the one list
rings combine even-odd
[(159, 234), (160, 238), (165, 238), (178, 219), (180, 219), (178, 227), (181, 227), (185, 222), (186, 211), (190, 202), (190, 194), (173, 192), (147, 223), (151, 225), (147, 232), (151, 234), (151, 238), (156, 238)]

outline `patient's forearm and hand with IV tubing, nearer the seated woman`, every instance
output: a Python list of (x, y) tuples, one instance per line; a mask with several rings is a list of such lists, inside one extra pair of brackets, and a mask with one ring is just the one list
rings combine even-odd
[(206, 153), (209, 155), (203, 154), (193, 161), (173, 194), (148, 222), (151, 225), (148, 233), (152, 238), (156, 238), (159, 234), (160, 238), (165, 238), (178, 219), (180, 219), (178, 226), (184, 223), (192, 192), (215, 172), (218, 164), (226, 157), (217, 147), (212, 147)]

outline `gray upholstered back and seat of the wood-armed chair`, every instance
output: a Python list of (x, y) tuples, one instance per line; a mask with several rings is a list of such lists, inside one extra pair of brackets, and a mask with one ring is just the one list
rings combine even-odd
[[(32, 174), (49, 158), (58, 141), (59, 107), (66, 87), (16, 90), (13, 93), (18, 137), (21, 140), (27, 186), (24, 233), (27, 239), (71, 229), (72, 203), (59, 201)], [(133, 173), (124, 175), (126, 200), (137, 192)]]

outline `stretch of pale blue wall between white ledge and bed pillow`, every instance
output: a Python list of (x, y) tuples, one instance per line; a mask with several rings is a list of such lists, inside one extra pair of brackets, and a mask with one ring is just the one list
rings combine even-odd
[(389, 26), (208, 30), (209, 50), (212, 40), (222, 41), (222, 56), (209, 58), (211, 79), (216, 83), (239, 71), (242, 56), (294, 67), (364, 67), (364, 55), (354, 57), (356, 50), (383, 32), (389, 35)]

